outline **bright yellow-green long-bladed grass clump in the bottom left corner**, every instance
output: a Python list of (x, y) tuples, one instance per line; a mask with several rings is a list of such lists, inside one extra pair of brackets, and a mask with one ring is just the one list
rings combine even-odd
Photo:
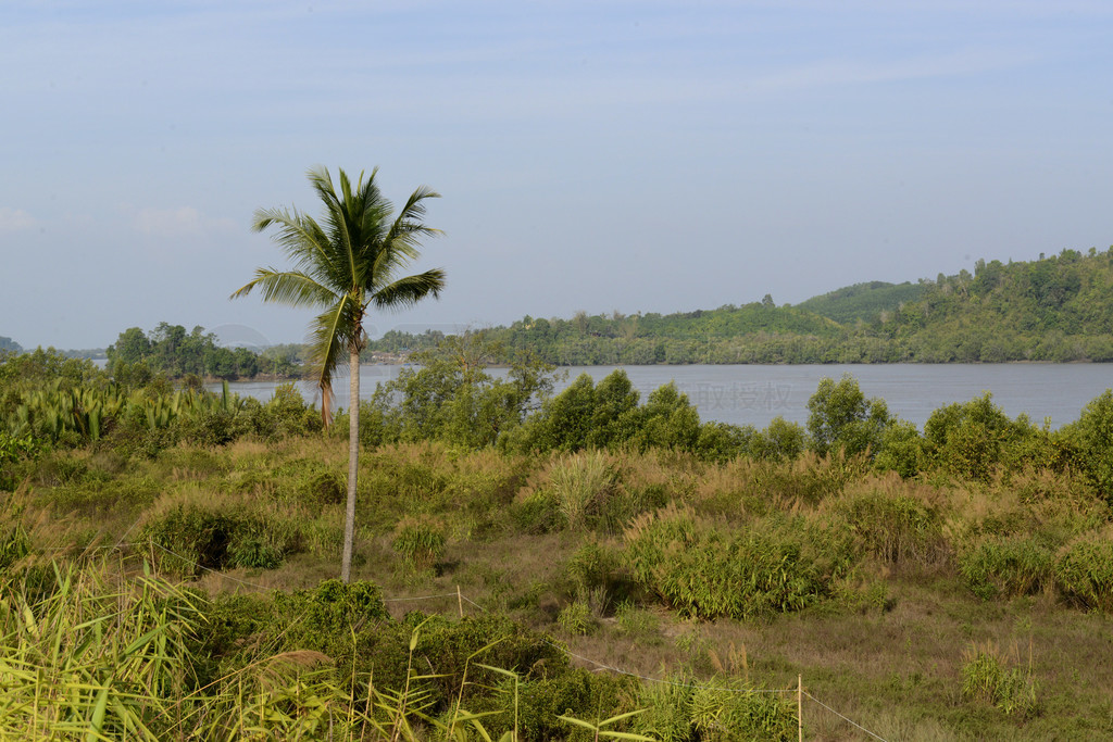
[(194, 597), (107, 565), (58, 567), (45, 597), (18, 578), (0, 601), (0, 736), (159, 740), (188, 689)]

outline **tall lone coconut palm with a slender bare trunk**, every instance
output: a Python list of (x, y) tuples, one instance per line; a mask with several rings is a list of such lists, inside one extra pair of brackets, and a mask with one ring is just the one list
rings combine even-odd
[(367, 344), (363, 320), (372, 307), (407, 307), (426, 296), (440, 296), (444, 288), (444, 270), (440, 268), (397, 277), (400, 270), (418, 257), (421, 239), (440, 234), (422, 221), (425, 199), (440, 195), (418, 188), (394, 215), (394, 207), (375, 185), (377, 172), (377, 168), (372, 170), (366, 180), (361, 172), (353, 186), (347, 174), (339, 170), (337, 190), (327, 169), (311, 169), (309, 182), (324, 204), (319, 222), (297, 209), (257, 210), (253, 229), (275, 227), (274, 241), (294, 263), (294, 268), (258, 268), (255, 278), (232, 295), (232, 298), (247, 296), (259, 288), (265, 301), (321, 309), (309, 326), (309, 357), (321, 388), (321, 412), (326, 427), (332, 424), (333, 376), (345, 365), (351, 372), (347, 514), (341, 564), (341, 580), (345, 583), (352, 576), (355, 536), (359, 352)]

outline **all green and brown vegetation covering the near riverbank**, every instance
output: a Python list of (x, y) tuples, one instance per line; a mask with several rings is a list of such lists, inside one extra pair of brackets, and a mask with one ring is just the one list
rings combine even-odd
[(844, 377), (754, 429), (481, 336), (418, 360), (362, 405), (344, 585), (347, 426), (294, 387), (6, 357), (0, 729), (795, 739), (802, 675), (884, 739), (1113, 734), (1113, 392), (917, 428)]

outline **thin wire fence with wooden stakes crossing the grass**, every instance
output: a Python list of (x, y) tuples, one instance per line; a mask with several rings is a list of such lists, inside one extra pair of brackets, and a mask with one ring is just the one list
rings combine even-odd
[[(127, 537), (127, 534), (125, 534), (124, 537)], [(183, 556), (181, 554), (178, 554), (178, 553), (176, 553), (176, 552), (174, 552), (174, 551), (171, 551), (169, 548), (166, 548), (161, 544), (157, 544), (157, 543), (155, 543), (152, 541), (150, 541), (150, 542), (125, 542), (121, 538), (119, 542), (117, 542), (116, 544), (112, 544), (112, 545), (91, 546), (91, 547), (86, 547), (86, 548), (82, 548), (82, 550), (75, 550), (75, 548), (69, 548), (69, 547), (59, 547), (59, 548), (38, 548), (36, 551), (41, 552), (41, 553), (49, 553), (49, 554), (57, 554), (57, 553), (61, 553), (61, 552), (73, 552), (73, 551), (79, 551), (81, 554), (92, 554), (92, 553), (97, 553), (97, 552), (110, 552), (110, 551), (124, 552), (125, 550), (128, 550), (128, 548), (136, 548), (136, 550), (138, 550), (138, 548), (148, 548), (148, 547), (151, 548), (151, 550), (158, 548), (161, 552), (166, 553), (167, 555), (173, 556), (173, 557), (179, 560), (183, 564), (191, 565), (196, 570), (199, 570), (199, 571), (203, 571), (205, 573), (215, 575), (215, 576), (219, 577), (220, 580), (226, 580), (228, 582), (236, 583), (238, 585), (243, 585), (243, 586), (246, 586), (246, 587), (252, 587), (254, 590), (258, 590), (258, 591), (262, 591), (262, 592), (267, 592), (267, 591), (274, 590), (273, 586), (262, 585), (262, 584), (258, 584), (258, 583), (248, 582), (246, 580), (240, 580), (239, 577), (236, 577), (234, 575), (230, 575), (230, 574), (227, 574), (225, 572), (221, 572), (220, 570), (216, 570), (216, 568), (213, 568), (213, 567), (205, 566), (204, 564), (199, 564), (196, 561), (190, 560), (190, 558), (188, 558), (186, 556)], [(459, 613), (460, 613), (461, 617), (463, 617), (463, 615), (464, 615), (464, 612), (463, 612), (463, 604), (464, 603), (467, 603), (469, 605), (473, 606), (474, 609), (476, 609), (477, 611), (480, 611), (482, 613), (487, 613), (489, 612), (485, 606), (481, 605), (480, 603), (476, 603), (475, 601), (473, 601), (472, 598), (467, 597), (462, 592), (460, 592), (459, 587), (456, 587), (456, 592), (454, 592), (454, 593), (437, 593), (437, 594), (433, 594), (433, 595), (407, 595), (407, 596), (403, 596), (403, 597), (384, 597), (382, 600), (383, 600), (384, 603), (406, 603), (406, 602), (424, 602), (424, 601), (433, 601), (433, 600), (445, 600), (445, 598), (453, 598), (453, 597), (456, 598), (456, 601), (457, 601), (457, 606), (459, 606), (457, 610), (459, 610)], [(630, 672), (628, 670), (622, 670), (621, 667), (615, 667), (613, 665), (609, 665), (607, 663), (599, 662), (597, 660), (592, 660), (591, 657), (583, 656), (582, 654), (577, 654), (575, 652), (572, 652), (571, 650), (569, 650), (563, 644), (561, 644), (559, 642), (554, 642), (554, 641), (552, 641), (549, 637), (543, 637), (542, 641), (544, 643), (549, 644), (550, 646), (556, 649), (558, 651), (564, 653), (570, 659), (578, 660), (580, 662), (584, 662), (584, 663), (594, 665), (595, 667), (598, 667), (600, 670), (605, 670), (608, 672), (612, 672), (612, 673), (618, 674), (618, 675), (624, 675), (627, 677), (632, 677), (632, 679), (636, 679), (636, 680), (639, 680), (639, 681), (642, 681), (642, 682), (646, 682), (646, 683), (657, 683), (657, 684), (670, 685), (670, 686), (674, 686), (674, 687), (689, 687), (689, 689), (699, 690), (699, 691), (715, 691), (715, 692), (726, 692), (726, 693), (747, 693), (747, 694), (768, 693), (768, 694), (781, 694), (781, 695), (796, 694), (797, 695), (797, 713), (799, 715), (799, 721), (800, 721), (800, 724), (801, 724), (801, 726), (800, 726), (800, 740), (804, 739), (804, 735), (802, 735), (802, 721), (804, 721), (802, 699), (806, 696), (809, 701), (812, 701), (814, 703), (816, 703), (818, 706), (820, 706), (825, 711), (827, 711), (827, 712), (829, 712), (829, 713), (838, 716), (840, 720), (843, 720), (847, 724), (850, 724), (851, 726), (860, 730), (865, 734), (868, 734), (870, 738), (873, 738), (875, 740), (880, 740), (881, 742), (888, 742), (885, 738), (883, 738), (879, 734), (877, 734), (877, 733), (875, 733), (875, 732), (866, 729), (865, 726), (863, 726), (861, 724), (857, 723), (853, 719), (849, 719), (848, 716), (839, 713), (835, 709), (830, 708), (829, 705), (827, 705), (826, 703), (824, 703), (823, 701), (820, 701), (819, 699), (817, 699), (816, 696), (814, 696), (808, 691), (804, 690), (802, 679), (800, 679), (800, 682), (799, 682), (799, 684), (798, 684), (797, 687), (787, 687), (787, 689), (754, 689), (754, 687), (735, 687), (735, 686), (730, 686), (730, 685), (703, 685), (703, 684), (700, 684), (700, 683), (687, 683), (687, 682), (681, 682), (681, 681), (668, 680), (668, 679), (663, 679), (663, 677), (653, 677), (653, 676), (650, 676), (650, 675), (642, 675), (642, 674), (639, 674), (639, 673), (636, 673), (636, 672)]]

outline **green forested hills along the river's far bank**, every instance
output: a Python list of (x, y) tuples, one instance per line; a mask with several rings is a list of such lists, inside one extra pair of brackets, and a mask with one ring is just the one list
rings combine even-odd
[[(797, 306), (524, 317), (486, 330), (561, 365), (1113, 360), (1113, 248), (1027, 263), (979, 260), (935, 280), (856, 284)], [(443, 336), (391, 333), (371, 350)]]

